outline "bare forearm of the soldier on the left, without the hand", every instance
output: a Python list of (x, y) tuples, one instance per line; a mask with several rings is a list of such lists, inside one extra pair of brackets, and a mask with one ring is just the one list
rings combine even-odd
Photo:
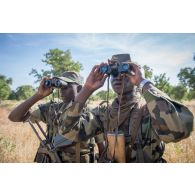
[(32, 97), (30, 97), (29, 99), (27, 99), (26, 101), (24, 101), (23, 103), (21, 103), (20, 105), (18, 105), (9, 114), (8, 118), (11, 121), (13, 121), (13, 122), (21, 122), (21, 121), (24, 121), (25, 118), (26, 118), (26, 116), (27, 116), (27, 112), (29, 111), (29, 109), (36, 102), (38, 102), (40, 99), (42, 99), (42, 97), (36, 93), (35, 95), (33, 95)]

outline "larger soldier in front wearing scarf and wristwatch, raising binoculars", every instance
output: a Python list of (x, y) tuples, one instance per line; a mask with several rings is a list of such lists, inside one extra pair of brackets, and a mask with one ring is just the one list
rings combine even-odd
[[(80, 130), (82, 139), (99, 131), (114, 132), (124, 136), (124, 144), (114, 138), (114, 151), (108, 133), (107, 158), (113, 162), (166, 162), (162, 156), (164, 143), (187, 138), (193, 130), (193, 115), (184, 105), (171, 100), (143, 77), (141, 68), (133, 63), (130, 55), (112, 56), (109, 65), (129, 64), (128, 74), (111, 74), (111, 84), (118, 97), (109, 108), (97, 107), (81, 115), (85, 101), (103, 86), (108, 75), (100, 71), (102, 63), (89, 74), (73, 105), (60, 117), (62, 134)], [(120, 111), (120, 115), (119, 115)], [(76, 132), (76, 131), (75, 131)], [(115, 136), (116, 137), (116, 136)], [(123, 151), (115, 146), (122, 147)], [(109, 151), (110, 150), (110, 151)], [(115, 156), (124, 153), (123, 160)], [(117, 159), (118, 158), (118, 159)]]

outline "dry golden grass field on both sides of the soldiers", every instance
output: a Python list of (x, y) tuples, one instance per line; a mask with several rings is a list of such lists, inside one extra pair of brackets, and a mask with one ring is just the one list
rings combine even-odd
[[(8, 115), (17, 104), (4, 101), (0, 105), (0, 162), (33, 162), (39, 145), (29, 124), (9, 121)], [(195, 115), (195, 101), (185, 104)], [(164, 158), (168, 162), (195, 162), (195, 131), (179, 143), (167, 144)]]

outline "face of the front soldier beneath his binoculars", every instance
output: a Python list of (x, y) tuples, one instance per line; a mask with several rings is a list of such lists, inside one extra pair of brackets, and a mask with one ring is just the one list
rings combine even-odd
[(122, 90), (122, 81), (124, 79), (123, 93), (131, 93), (134, 85), (129, 81), (127, 77), (122, 77), (120, 74), (117, 77), (111, 76), (111, 85), (115, 93), (120, 94)]

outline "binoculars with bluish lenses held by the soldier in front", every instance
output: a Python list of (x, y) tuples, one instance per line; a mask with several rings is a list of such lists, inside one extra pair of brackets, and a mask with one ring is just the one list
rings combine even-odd
[(108, 75), (112, 75), (113, 77), (117, 77), (118, 74), (129, 73), (130, 65), (127, 63), (118, 63), (109, 64), (100, 67), (100, 72)]

